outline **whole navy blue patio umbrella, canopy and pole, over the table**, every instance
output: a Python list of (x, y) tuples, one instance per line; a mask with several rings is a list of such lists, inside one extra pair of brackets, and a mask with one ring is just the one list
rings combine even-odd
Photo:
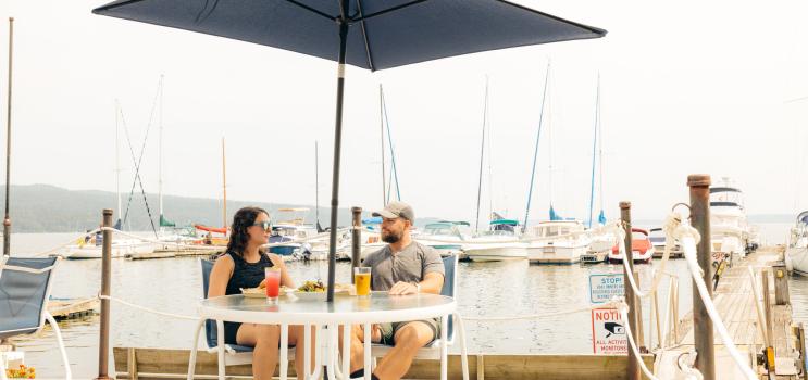
[(92, 13), (337, 61), (330, 302), (334, 299), (346, 63), (377, 71), (453, 55), (606, 35), (604, 29), (505, 0), (117, 0)]

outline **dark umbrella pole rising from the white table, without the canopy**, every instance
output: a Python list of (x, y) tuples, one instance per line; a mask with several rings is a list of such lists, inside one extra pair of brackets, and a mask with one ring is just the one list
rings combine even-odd
[[(347, 2), (341, 2), (343, 7)], [(347, 13), (347, 12), (346, 12)], [(328, 237), (328, 293), (327, 302), (334, 301), (334, 269), (337, 264), (337, 212), (339, 208), (339, 152), (343, 139), (343, 92), (345, 90), (345, 52), (348, 39), (348, 23), (339, 20), (339, 63), (337, 66), (337, 113), (334, 128), (334, 172), (331, 186), (331, 233)]]

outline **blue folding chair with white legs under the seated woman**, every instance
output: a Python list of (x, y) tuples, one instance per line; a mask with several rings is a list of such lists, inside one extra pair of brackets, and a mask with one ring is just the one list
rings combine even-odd
[[(208, 297), (208, 287), (210, 286), (210, 273), (213, 270), (214, 262), (208, 259), (200, 259), (202, 265), (202, 297)], [(197, 362), (197, 346), (199, 341), (199, 333), (202, 327), (204, 327), (204, 340), (208, 344), (208, 352), (219, 353), (219, 378), (224, 379), (225, 368), (227, 366), (238, 366), (243, 364), (252, 364), (252, 351), (253, 347), (237, 344), (226, 344), (224, 339), (222, 342), (219, 341), (219, 331), (224, 331), (223, 320), (206, 319), (200, 320), (197, 326), (196, 333), (194, 334), (194, 347), (190, 352), (190, 359), (188, 360), (188, 380), (194, 379), (194, 372), (196, 369)], [(222, 333), (224, 337), (224, 333)], [(220, 344), (221, 343), (221, 344)], [(295, 358), (295, 349), (289, 349), (289, 359)]]

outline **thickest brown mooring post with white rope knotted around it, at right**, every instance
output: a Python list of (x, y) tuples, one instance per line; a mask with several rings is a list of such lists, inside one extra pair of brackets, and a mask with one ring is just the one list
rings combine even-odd
[[(703, 280), (712, 299), (712, 248), (710, 242), (710, 176), (694, 174), (687, 177), (687, 187), (691, 188), (691, 221), (698, 230), (701, 240), (696, 246), (698, 266), (701, 268)], [(712, 319), (707, 314), (707, 307), (693, 283), (693, 332), (696, 342), (696, 368), (705, 380), (716, 379), (716, 351), (712, 337)]]

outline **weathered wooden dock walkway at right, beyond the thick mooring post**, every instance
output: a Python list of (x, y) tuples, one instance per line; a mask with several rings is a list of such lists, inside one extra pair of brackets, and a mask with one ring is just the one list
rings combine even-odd
[[(738, 351), (748, 358), (747, 365), (761, 379), (806, 379), (805, 340), (801, 324), (794, 326), (788, 301), (788, 282), (782, 264), (782, 246), (760, 249), (729, 268), (713, 291), (713, 302)], [(753, 284), (749, 268), (755, 269)], [(767, 276), (763, 279), (760, 274)], [(768, 284), (768, 286), (767, 286)], [(757, 291), (756, 289), (757, 288)], [(755, 294), (760, 316), (755, 305)], [(683, 294), (682, 296), (689, 296)], [(774, 373), (769, 375), (765, 357), (766, 337), (771, 337)], [(670, 337), (679, 346), (657, 358), (660, 379), (673, 379), (678, 373), (676, 358), (695, 351), (693, 313), (679, 321), (679, 337)], [(717, 379), (743, 379), (723, 341), (714, 337)]]

